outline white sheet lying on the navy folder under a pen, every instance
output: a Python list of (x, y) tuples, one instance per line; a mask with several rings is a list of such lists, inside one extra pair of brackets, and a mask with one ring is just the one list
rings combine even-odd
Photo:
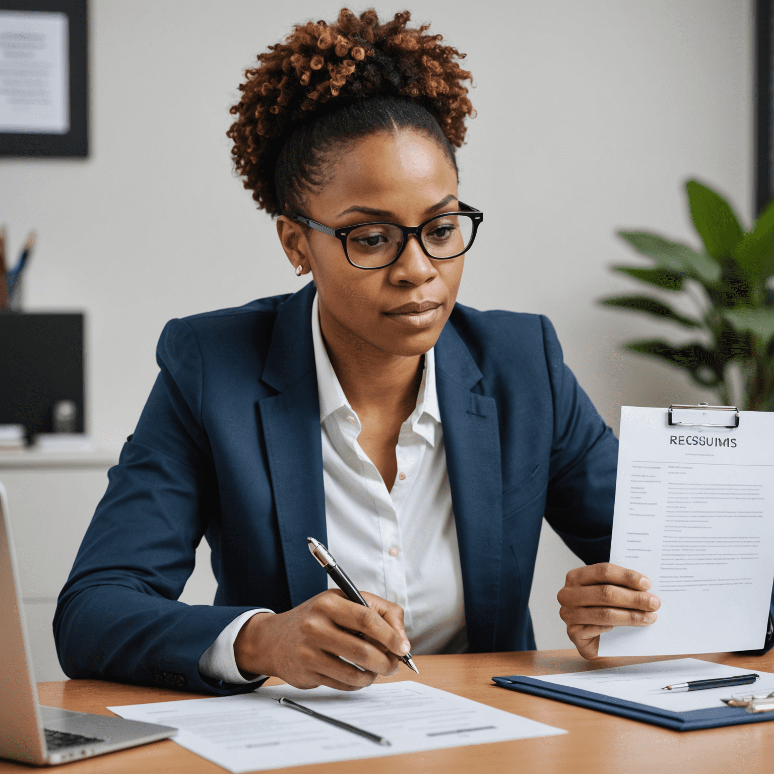
[[(667, 685), (688, 683), (691, 680), (716, 680), (718, 677), (757, 672), (761, 679), (749, 685), (736, 685), (731, 688), (710, 688), (709, 690), (690, 690), (685, 693), (673, 693), (661, 690)], [(721, 698), (728, 699), (731, 694), (744, 694), (746, 691), (774, 690), (774, 674), (758, 670), (742, 669), (738, 666), (726, 666), (700, 659), (671, 659), (670, 661), (651, 661), (646, 664), (614, 666), (608, 670), (590, 670), (588, 672), (570, 672), (563, 675), (540, 675), (536, 680), (554, 683), (570, 688), (588, 690), (594, 694), (615, 697), (638, 704), (649, 704), (661, 710), (688, 712), (722, 707)]]

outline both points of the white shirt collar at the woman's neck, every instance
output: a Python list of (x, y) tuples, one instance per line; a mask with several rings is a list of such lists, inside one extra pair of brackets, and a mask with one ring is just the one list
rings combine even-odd
[[(312, 303), (312, 343), (314, 346), (314, 365), (317, 369), (317, 394), (320, 397), (320, 424), (324, 423), (337, 409), (345, 407), (351, 410), (347, 396), (341, 389), (334, 367), (325, 348), (323, 334), (320, 330), (320, 306), (315, 293)], [(430, 423), (427, 421), (430, 418)], [(434, 423), (440, 424), (438, 394), (435, 381), (434, 348), (425, 354), (425, 368), (420, 384), (420, 392), (416, 397), (416, 409), (409, 416), (409, 423), (415, 433), (419, 433), (428, 443), (435, 445)]]

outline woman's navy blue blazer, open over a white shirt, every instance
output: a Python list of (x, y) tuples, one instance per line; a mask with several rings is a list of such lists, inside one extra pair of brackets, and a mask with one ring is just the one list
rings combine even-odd
[[(161, 372), (60, 594), (69, 676), (252, 690), (201, 676), (202, 653), (242, 612), (327, 588), (307, 549), (326, 541), (314, 292), (164, 328)], [(436, 375), (470, 649), (534, 649), (543, 516), (581, 560), (608, 560), (618, 441), (546, 317), (457, 304)], [(203, 535), (218, 588), (191, 607), (176, 600)]]

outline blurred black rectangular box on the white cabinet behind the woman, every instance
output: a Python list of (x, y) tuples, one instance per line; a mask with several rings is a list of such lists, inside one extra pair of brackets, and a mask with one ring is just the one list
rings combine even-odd
[(84, 315), (0, 313), (0, 424), (24, 425), (31, 442), (52, 432), (60, 400), (74, 401), (83, 433)]

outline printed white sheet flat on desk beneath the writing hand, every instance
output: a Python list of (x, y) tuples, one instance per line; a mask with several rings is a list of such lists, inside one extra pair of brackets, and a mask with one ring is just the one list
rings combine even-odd
[[(281, 696), (381, 735), (392, 746), (282, 707)], [(108, 709), (131, 720), (178, 728), (174, 741), (235, 774), (567, 733), (412, 680), (353, 693), (271, 686), (240, 696)]]

